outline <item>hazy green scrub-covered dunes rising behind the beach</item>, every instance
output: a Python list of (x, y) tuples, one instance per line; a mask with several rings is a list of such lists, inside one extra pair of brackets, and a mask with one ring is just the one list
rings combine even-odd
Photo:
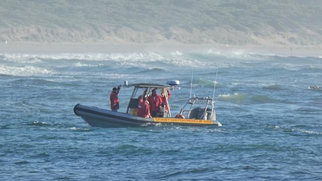
[(321, 45), (321, 0), (1, 0), (0, 41)]

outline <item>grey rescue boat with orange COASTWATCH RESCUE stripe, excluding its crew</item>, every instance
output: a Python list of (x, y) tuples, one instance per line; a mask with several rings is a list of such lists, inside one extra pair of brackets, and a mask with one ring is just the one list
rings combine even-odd
[[(171, 81), (167, 82), (167, 84), (170, 86), (145, 83), (127, 85), (126, 82), (125, 87), (134, 87), (134, 90), (125, 113), (82, 104), (75, 105), (74, 113), (92, 127), (102, 128), (135, 127), (149, 124), (221, 126), (221, 124), (216, 121), (214, 101), (210, 97), (193, 96), (192, 98), (189, 98), (186, 104), (181, 108), (179, 114), (175, 117), (171, 117), (170, 105), (167, 101), (162, 105), (163, 107), (160, 107), (158, 117), (142, 118), (137, 116), (138, 103), (142, 96), (147, 96), (153, 89), (157, 89), (161, 90), (163, 96), (166, 96), (167, 98), (167, 90), (175, 89), (174, 86), (177, 85), (178, 82)], [(197, 104), (197, 102), (199, 103)], [(203, 102), (204, 106), (199, 106), (200, 102)], [(168, 110), (165, 110), (165, 106), (168, 107)]]

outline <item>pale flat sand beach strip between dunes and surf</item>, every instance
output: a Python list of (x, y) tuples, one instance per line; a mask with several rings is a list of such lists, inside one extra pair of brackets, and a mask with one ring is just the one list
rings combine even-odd
[(22, 54), (59, 54), (59, 53), (130, 53), (130, 52), (214, 52), (219, 54), (261, 54), (276, 56), (322, 57), (322, 46), (255, 46), (221, 44), (182, 44), (177, 42), (158, 42), (149, 44), (135, 43), (38, 43), (13, 42), (1, 43), (0, 53)]

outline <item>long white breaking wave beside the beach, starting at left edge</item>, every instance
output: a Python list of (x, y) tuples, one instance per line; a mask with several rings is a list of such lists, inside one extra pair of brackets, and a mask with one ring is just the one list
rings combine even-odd
[[(147, 53), (110, 53), (110, 54), (76, 54), (76, 53), (61, 53), (61, 54), (0, 54), (2, 61), (20, 64), (32, 63), (50, 63), (58, 64), (64, 62), (75, 62), (74, 67), (96, 67), (100, 65), (92, 65), (88, 61), (101, 62), (105, 65), (116, 66), (136, 66), (136, 67), (149, 67), (159, 68), (167, 65), (172, 66), (192, 66), (200, 67), (205, 66), (195, 59), (181, 58), (180, 52), (175, 55), (162, 56), (155, 52)], [(0, 59), (0, 60), (1, 60)], [(87, 63), (84, 63), (87, 62)]]

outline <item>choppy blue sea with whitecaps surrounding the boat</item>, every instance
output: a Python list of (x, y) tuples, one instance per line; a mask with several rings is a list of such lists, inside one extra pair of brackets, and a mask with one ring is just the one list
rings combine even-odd
[[(179, 80), (222, 127), (93, 128), (112, 87)], [(309, 89), (316, 86), (316, 89)], [(320, 88), (318, 88), (319, 86)], [(322, 180), (322, 58), (216, 51), (0, 54), (0, 180)], [(132, 88), (119, 93), (125, 111)]]

